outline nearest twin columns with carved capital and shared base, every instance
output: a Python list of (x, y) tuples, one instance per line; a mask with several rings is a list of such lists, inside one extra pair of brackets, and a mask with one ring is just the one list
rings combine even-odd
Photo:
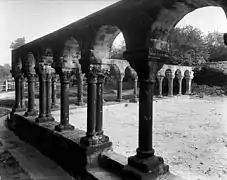
[(86, 136), (81, 138), (80, 143), (93, 152), (112, 145), (102, 129), (104, 81), (105, 71), (102, 71), (102, 65), (91, 65), (87, 74), (87, 132)]

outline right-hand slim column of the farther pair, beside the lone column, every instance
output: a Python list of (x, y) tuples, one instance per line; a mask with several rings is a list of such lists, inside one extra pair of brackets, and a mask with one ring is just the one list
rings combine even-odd
[(52, 95), (52, 74), (53, 69), (50, 65), (47, 65), (47, 76), (46, 76), (46, 120), (47, 121), (54, 121), (53, 116), (51, 115), (51, 95)]

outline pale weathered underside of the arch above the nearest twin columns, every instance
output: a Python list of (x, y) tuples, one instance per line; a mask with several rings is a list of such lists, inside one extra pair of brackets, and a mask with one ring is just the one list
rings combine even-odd
[(121, 32), (117, 26), (111, 25), (103, 25), (98, 30), (93, 46), (93, 54), (97, 61), (110, 58), (112, 44)]

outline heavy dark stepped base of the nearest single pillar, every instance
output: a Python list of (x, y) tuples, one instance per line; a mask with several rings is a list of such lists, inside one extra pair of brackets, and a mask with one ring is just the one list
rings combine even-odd
[(139, 158), (132, 156), (128, 158), (128, 164), (123, 168), (123, 180), (149, 180), (160, 175), (169, 173), (169, 166), (159, 156)]

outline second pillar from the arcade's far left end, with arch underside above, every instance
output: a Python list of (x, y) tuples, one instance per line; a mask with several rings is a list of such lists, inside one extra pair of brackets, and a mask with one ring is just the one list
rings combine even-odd
[(25, 116), (36, 116), (35, 110), (35, 58), (32, 53), (28, 53), (28, 58), (25, 59), (23, 64), (24, 74), (28, 79), (28, 110)]

